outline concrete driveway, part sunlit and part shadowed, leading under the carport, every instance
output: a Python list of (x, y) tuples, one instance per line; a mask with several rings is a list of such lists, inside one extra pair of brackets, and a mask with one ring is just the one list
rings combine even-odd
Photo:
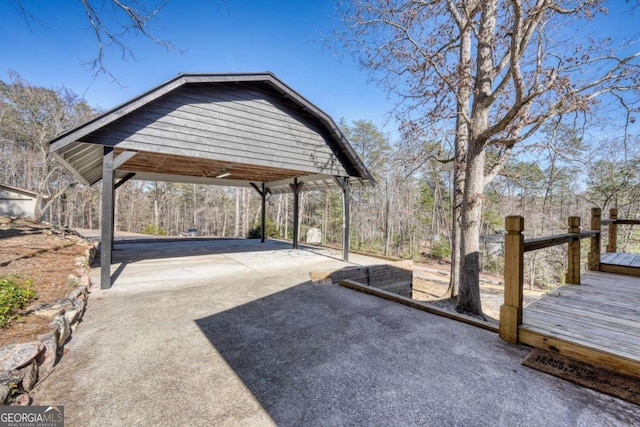
[(64, 405), (67, 426), (640, 423), (635, 405), (521, 366), (528, 350), (494, 333), (310, 284), (348, 264), (289, 247), (117, 244), (113, 288), (94, 286), (34, 404)]

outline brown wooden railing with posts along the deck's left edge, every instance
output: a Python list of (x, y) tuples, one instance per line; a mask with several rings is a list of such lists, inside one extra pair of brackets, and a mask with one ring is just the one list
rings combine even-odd
[[(640, 223), (640, 222), (639, 222)], [(614, 223), (615, 224), (615, 223)], [(524, 253), (567, 243), (567, 272), (565, 282), (580, 284), (580, 241), (590, 238), (589, 270), (600, 268), (601, 211), (591, 209), (591, 230), (580, 231), (580, 217), (570, 216), (568, 232), (549, 237), (525, 240), (524, 218), (508, 216), (505, 219), (504, 245), (504, 304), (500, 307), (500, 338), (518, 342), (518, 327), (522, 324), (524, 289)]]

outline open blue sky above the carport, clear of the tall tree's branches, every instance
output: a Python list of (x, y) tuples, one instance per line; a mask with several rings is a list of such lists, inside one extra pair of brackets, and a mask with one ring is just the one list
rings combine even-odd
[[(107, 49), (106, 65), (125, 87), (104, 75), (94, 80), (83, 65), (96, 55), (97, 44), (79, 1), (22, 3), (43, 24), (29, 29), (10, 1), (0, 1), (0, 79), (12, 69), (35, 85), (64, 85), (104, 109), (180, 72), (267, 70), (335, 120), (367, 119), (383, 127), (392, 106), (386, 92), (369, 83), (367, 71), (323, 46), (323, 34), (331, 36), (338, 25), (333, 0), (171, 0), (152, 31), (186, 52), (167, 52), (139, 36), (126, 39), (137, 60), (123, 61)], [(623, 0), (608, 6), (609, 15), (590, 24), (593, 31), (638, 40), (640, 10), (630, 15)], [(384, 130), (395, 134), (394, 127)]]

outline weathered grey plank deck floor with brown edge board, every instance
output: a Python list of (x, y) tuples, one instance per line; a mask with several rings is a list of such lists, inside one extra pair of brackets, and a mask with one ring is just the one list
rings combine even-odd
[(519, 341), (638, 375), (640, 278), (587, 271), (581, 282), (526, 306)]

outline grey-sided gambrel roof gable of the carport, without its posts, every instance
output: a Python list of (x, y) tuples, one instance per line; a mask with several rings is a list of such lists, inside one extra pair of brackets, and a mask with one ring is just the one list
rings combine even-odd
[[(317, 174), (372, 181), (333, 120), (271, 73), (180, 74), (50, 141), (88, 183), (101, 178), (103, 146), (147, 153), (146, 165), (133, 157), (123, 171), (215, 178), (227, 163), (283, 171), (274, 181)], [(202, 170), (170, 172), (150, 162), (154, 154), (202, 159)]]

